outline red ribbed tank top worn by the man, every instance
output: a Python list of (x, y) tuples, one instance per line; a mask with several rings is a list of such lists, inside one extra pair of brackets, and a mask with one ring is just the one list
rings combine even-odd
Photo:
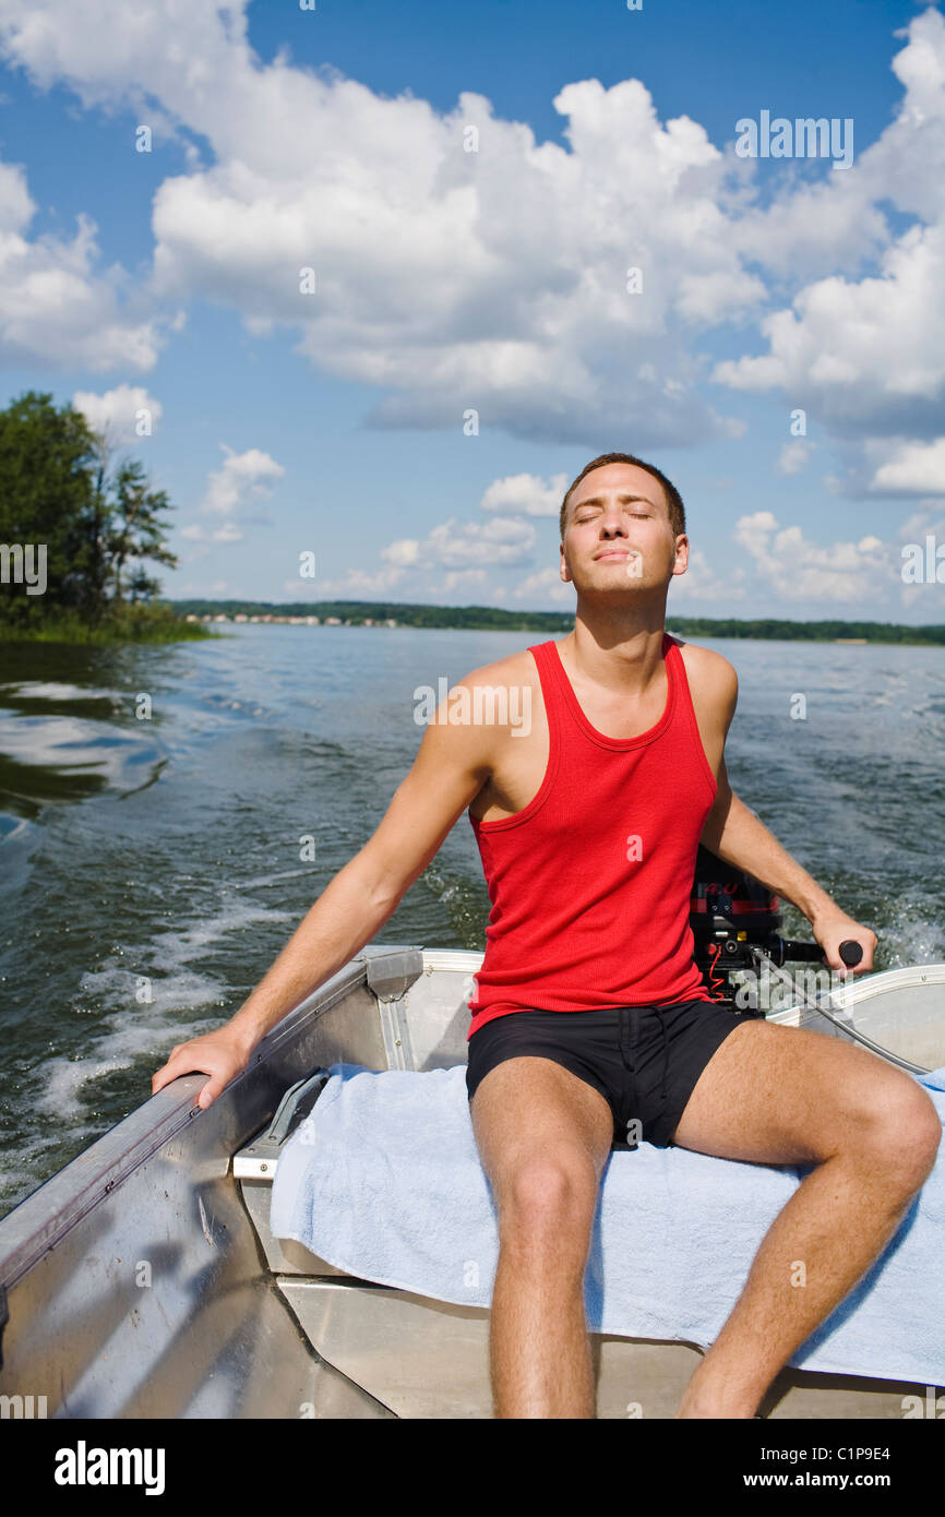
[(663, 634), (663, 716), (626, 739), (590, 725), (555, 642), (528, 651), (545, 698), (548, 768), (514, 816), (481, 822), (469, 813), (491, 913), (467, 1039), (529, 1007), (711, 1001), (689, 910), (717, 784), (678, 643)]

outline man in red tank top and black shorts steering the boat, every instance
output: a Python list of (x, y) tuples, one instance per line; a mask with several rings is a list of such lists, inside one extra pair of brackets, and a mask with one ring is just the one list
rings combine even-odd
[(209, 1106), (256, 1042), (375, 938), (469, 807), (493, 898), (467, 1089), (499, 1214), (496, 1417), (595, 1415), (582, 1277), (623, 1124), (719, 1157), (815, 1165), (692, 1376), (684, 1418), (755, 1414), (890, 1241), (942, 1136), (910, 1076), (840, 1039), (727, 1012), (701, 985), (687, 916), (699, 840), (793, 901), (831, 969), (845, 972), (843, 939), (869, 969), (877, 938), (733, 793), (736, 672), (664, 634), (687, 558), (670, 481), (629, 454), (595, 458), (561, 507), (573, 631), (460, 681), (528, 692), (529, 730), (431, 722), (376, 833), (265, 978), (152, 1082), (206, 1071)]

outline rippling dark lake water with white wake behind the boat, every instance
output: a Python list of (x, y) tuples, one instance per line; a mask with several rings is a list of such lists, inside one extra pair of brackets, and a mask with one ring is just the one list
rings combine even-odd
[[(416, 689), (546, 640), (226, 631), (0, 645), (0, 1215), (246, 1000), (384, 816), (420, 743)], [(739, 671), (742, 799), (880, 934), (878, 969), (945, 960), (945, 649), (699, 642)], [(461, 816), (376, 942), (482, 950), (487, 919)], [(808, 936), (792, 907), (783, 931)]]

